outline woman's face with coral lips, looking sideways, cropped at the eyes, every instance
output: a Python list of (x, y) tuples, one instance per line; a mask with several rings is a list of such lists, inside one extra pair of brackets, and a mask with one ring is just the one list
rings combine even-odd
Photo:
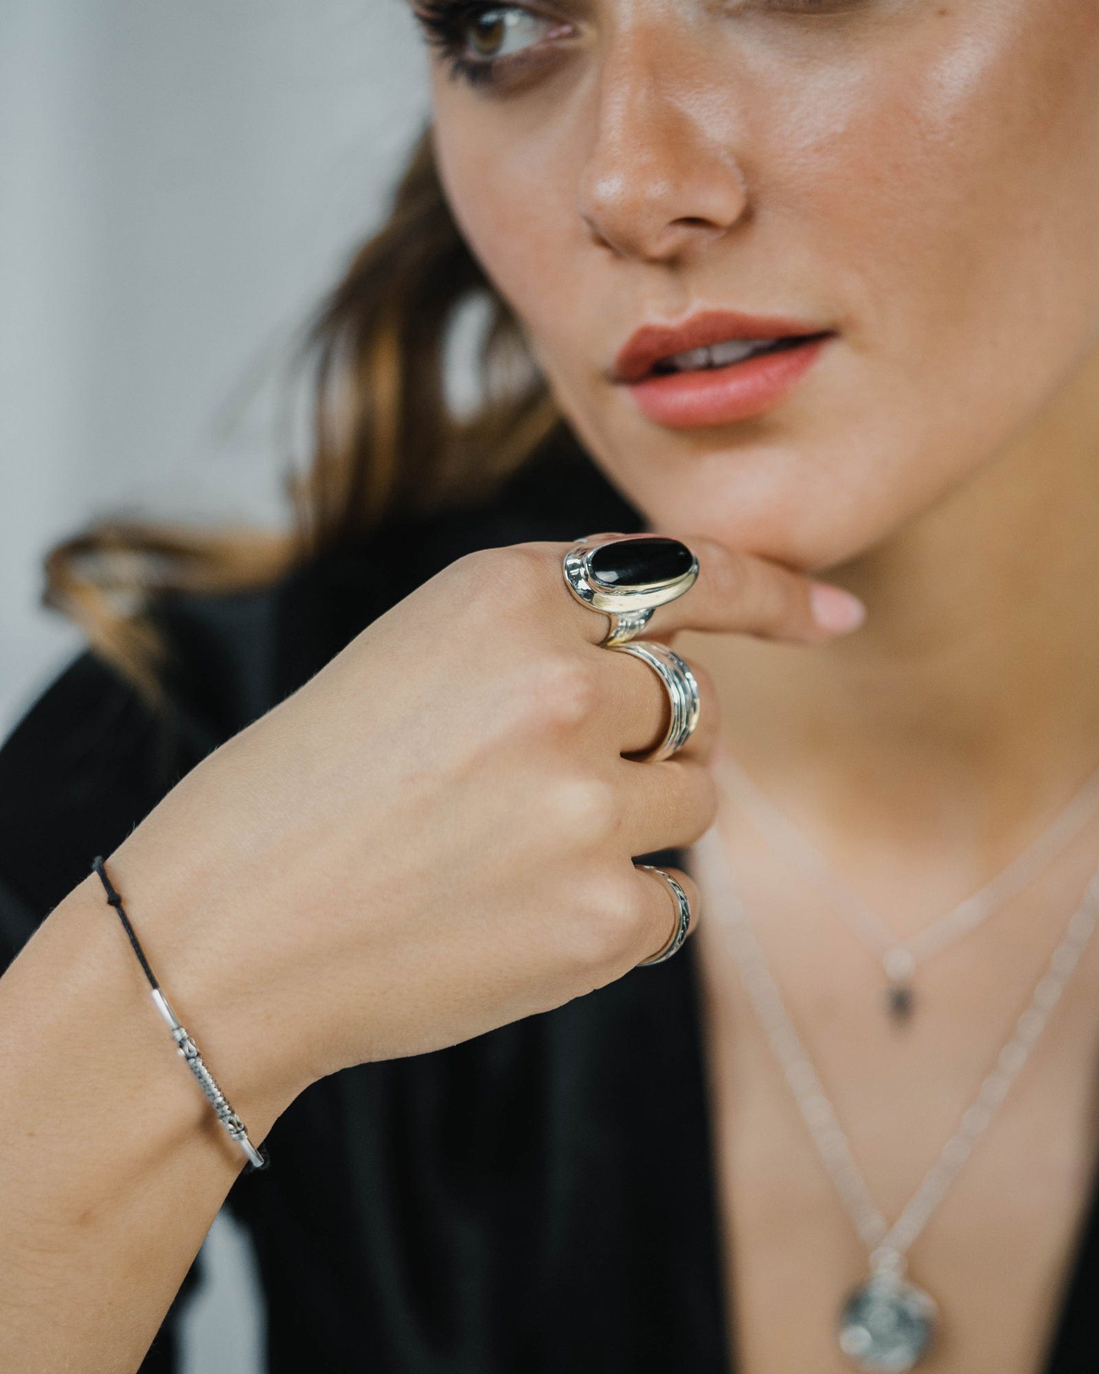
[[(455, 217), (654, 525), (842, 562), (1096, 346), (1092, 0), (416, 3), (475, 65), (433, 59)], [(762, 393), (743, 363), (614, 378), (637, 328), (702, 311), (832, 333)]]

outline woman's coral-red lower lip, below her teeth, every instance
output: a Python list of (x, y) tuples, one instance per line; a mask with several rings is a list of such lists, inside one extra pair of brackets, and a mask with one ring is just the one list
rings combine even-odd
[(762, 414), (787, 396), (832, 338), (826, 334), (728, 367), (647, 376), (628, 383), (629, 392), (642, 414), (668, 429), (731, 425)]

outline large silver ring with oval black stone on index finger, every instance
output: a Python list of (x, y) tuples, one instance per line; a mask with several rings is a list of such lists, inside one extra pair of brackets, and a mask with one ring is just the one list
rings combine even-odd
[(587, 539), (565, 555), (565, 583), (577, 600), (610, 616), (604, 647), (640, 635), (658, 606), (694, 587), (698, 559), (677, 539), (622, 534), (600, 544)]

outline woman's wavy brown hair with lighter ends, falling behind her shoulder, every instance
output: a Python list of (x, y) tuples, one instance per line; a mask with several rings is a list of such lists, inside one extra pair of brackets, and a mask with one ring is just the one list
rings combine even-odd
[[(488, 308), (478, 404), (453, 412), (445, 346), (457, 311)], [(512, 312), (471, 254), (438, 179), (426, 128), (387, 218), (354, 254), (306, 335), (312, 462), (284, 477), (290, 528), (192, 529), (99, 519), (45, 556), (41, 603), (84, 629), (89, 647), (154, 708), (165, 646), (148, 616), (163, 591), (240, 591), (360, 541), (387, 515), (473, 503), (515, 471), (560, 423)]]

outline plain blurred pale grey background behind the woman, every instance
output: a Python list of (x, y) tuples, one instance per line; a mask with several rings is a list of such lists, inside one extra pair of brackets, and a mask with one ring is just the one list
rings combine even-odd
[[(38, 605), (55, 540), (284, 522), (286, 363), (382, 217), (424, 60), (404, 0), (0, 0), (0, 738), (82, 643)], [(227, 1217), (203, 1264), (185, 1374), (254, 1374)]]

